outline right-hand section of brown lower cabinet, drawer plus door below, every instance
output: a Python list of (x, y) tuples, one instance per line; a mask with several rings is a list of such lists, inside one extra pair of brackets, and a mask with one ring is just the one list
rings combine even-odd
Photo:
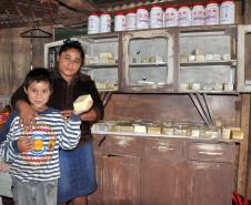
[(187, 204), (231, 204), (235, 189), (235, 145), (191, 142), (188, 150)]

